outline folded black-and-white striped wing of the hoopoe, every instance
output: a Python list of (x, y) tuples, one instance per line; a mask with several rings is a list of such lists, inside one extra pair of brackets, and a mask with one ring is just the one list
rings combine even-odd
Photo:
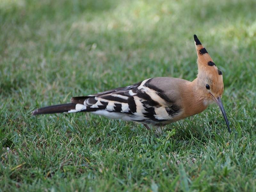
[(124, 88), (73, 97), (71, 102), (76, 104), (76, 109), (68, 112), (88, 111), (113, 119), (152, 124), (172, 120), (180, 108), (150, 81), (147, 79)]

